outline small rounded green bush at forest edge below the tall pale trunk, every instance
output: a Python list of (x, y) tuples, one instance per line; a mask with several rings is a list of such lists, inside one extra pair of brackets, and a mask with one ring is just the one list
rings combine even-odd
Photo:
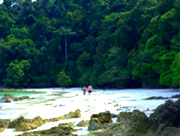
[(57, 84), (63, 87), (67, 87), (71, 85), (71, 79), (66, 73), (62, 70), (57, 75)]

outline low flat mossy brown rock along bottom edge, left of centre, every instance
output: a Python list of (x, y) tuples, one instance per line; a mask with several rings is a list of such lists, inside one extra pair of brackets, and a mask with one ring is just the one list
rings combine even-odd
[(73, 127), (73, 123), (62, 123), (58, 127), (52, 127), (48, 130), (23, 133), (18, 136), (77, 136), (72, 134), (73, 131), (76, 131)]

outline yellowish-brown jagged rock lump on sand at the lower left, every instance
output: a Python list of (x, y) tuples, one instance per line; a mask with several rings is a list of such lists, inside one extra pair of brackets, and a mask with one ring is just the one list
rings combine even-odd
[(15, 128), (17, 131), (27, 131), (42, 126), (45, 123), (47, 122), (40, 116), (35, 117), (34, 119), (25, 119), (24, 117), (20, 117), (12, 121), (9, 124), (9, 128)]

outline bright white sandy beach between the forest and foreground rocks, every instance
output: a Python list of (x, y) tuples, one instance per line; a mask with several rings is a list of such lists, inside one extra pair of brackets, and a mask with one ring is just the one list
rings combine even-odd
[[(43, 119), (49, 119), (62, 116), (76, 109), (80, 109), (82, 115), (80, 119), (73, 120), (76, 123), (80, 120), (89, 120), (92, 114), (106, 110), (118, 114), (122, 111), (129, 112), (138, 109), (144, 111), (149, 116), (157, 106), (163, 104), (166, 100), (144, 100), (145, 98), (151, 96), (171, 97), (180, 93), (173, 89), (95, 89), (90, 96), (84, 96), (81, 88), (28, 89), (27, 91), (32, 90), (46, 93), (31, 94), (31, 97), (35, 99), (0, 103), (0, 117), (2, 119), (13, 120), (20, 116), (24, 116), (25, 118), (41, 116)], [(177, 99), (172, 100), (175, 101)], [(35, 130), (49, 129), (58, 126), (60, 122), (62, 121), (47, 123)], [(78, 135), (88, 133), (87, 127), (78, 129), (81, 129), (75, 132)], [(7, 134), (15, 135), (12, 129), (7, 129), (5, 132), (0, 133), (0, 135), (4, 136), (7, 136)]]

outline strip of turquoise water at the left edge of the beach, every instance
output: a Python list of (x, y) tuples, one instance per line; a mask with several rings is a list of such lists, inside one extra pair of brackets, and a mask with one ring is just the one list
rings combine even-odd
[(36, 92), (36, 91), (19, 91), (19, 90), (12, 90), (12, 91), (0, 91), (0, 99), (4, 96), (4, 94), (11, 94), (16, 97), (22, 96), (32, 96), (36, 94), (43, 94), (44, 92)]

